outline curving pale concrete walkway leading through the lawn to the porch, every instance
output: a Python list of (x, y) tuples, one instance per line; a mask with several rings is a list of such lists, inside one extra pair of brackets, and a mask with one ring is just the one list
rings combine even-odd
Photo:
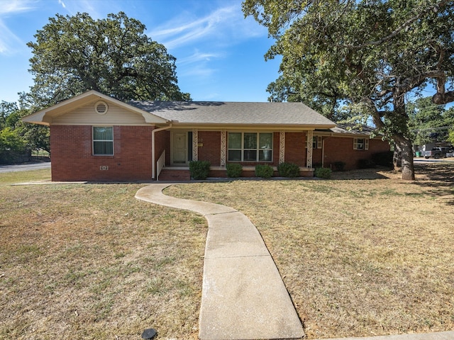
[(257, 228), (224, 205), (165, 196), (170, 183), (135, 198), (192, 210), (208, 220), (199, 339), (301, 339), (303, 327)]

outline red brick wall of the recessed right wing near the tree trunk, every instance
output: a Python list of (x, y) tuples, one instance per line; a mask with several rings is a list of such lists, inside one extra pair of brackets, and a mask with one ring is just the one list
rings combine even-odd
[(354, 150), (353, 137), (324, 137), (324, 140), (325, 162), (323, 165), (326, 168), (332, 166), (332, 169), (335, 169), (334, 162), (345, 162), (345, 170), (358, 169), (360, 159), (370, 159), (372, 154), (389, 151), (389, 143), (382, 140), (369, 140), (368, 150)]

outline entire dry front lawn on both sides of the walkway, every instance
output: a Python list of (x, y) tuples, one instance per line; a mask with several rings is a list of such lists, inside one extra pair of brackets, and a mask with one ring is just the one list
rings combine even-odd
[[(46, 172), (47, 171), (47, 172)], [(203, 217), (140, 184), (11, 186), (0, 176), (0, 338), (197, 339)], [(172, 186), (247, 215), (309, 339), (454, 329), (454, 165), (331, 180)], [(366, 178), (366, 179), (365, 179)]]

